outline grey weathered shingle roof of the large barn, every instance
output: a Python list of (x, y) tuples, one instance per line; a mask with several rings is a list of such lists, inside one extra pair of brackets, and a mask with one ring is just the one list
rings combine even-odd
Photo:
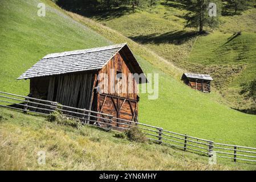
[[(101, 69), (124, 47), (126, 50), (129, 50), (132, 55), (126, 43), (77, 51), (51, 53), (44, 56), (23, 73), (18, 80)], [(131, 60), (131, 62), (136, 66), (136, 71), (143, 73), (135, 57), (133, 55), (132, 57), (133, 60)]]

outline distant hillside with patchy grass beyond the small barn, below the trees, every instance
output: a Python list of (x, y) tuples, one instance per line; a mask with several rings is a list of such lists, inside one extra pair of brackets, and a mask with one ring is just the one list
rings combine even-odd
[[(120, 10), (121, 11), (121, 10)], [(188, 13), (177, 1), (159, 1), (152, 9), (112, 10), (86, 14), (128, 38), (143, 44), (177, 67), (190, 72), (209, 73), (213, 86), (235, 109), (253, 105), (240, 96), (240, 84), (256, 75), (256, 9), (242, 15), (222, 16), (220, 27), (207, 36), (184, 28)], [(233, 36), (235, 32), (241, 36)]]

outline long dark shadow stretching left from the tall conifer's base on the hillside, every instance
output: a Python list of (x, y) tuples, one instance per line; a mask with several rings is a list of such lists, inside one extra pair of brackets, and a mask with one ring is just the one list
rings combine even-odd
[(130, 36), (129, 38), (141, 44), (170, 43), (170, 44), (181, 45), (188, 42), (190, 39), (193, 39), (196, 36), (200, 36), (200, 35), (208, 35), (208, 34), (206, 32), (204, 34), (201, 34), (198, 31), (191, 31), (191, 32), (171, 31), (161, 35), (157, 35), (157, 34), (139, 35), (139, 36)]

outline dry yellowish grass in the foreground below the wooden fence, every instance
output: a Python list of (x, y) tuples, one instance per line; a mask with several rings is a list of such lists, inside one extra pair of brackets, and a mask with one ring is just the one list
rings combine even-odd
[[(157, 144), (129, 142), (94, 127), (77, 130), (46, 118), (0, 108), (1, 170), (254, 170)], [(38, 152), (46, 152), (39, 165)], [(118, 151), (119, 155), (116, 155)]]

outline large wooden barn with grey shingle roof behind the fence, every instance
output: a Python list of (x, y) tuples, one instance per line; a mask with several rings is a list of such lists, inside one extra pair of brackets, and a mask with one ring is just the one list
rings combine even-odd
[[(103, 73), (107, 78), (102, 76)], [(133, 76), (135, 73), (140, 79)], [(30, 79), (30, 97), (136, 122), (137, 86), (147, 82), (126, 43), (51, 53), (18, 79), (27, 78)]]

